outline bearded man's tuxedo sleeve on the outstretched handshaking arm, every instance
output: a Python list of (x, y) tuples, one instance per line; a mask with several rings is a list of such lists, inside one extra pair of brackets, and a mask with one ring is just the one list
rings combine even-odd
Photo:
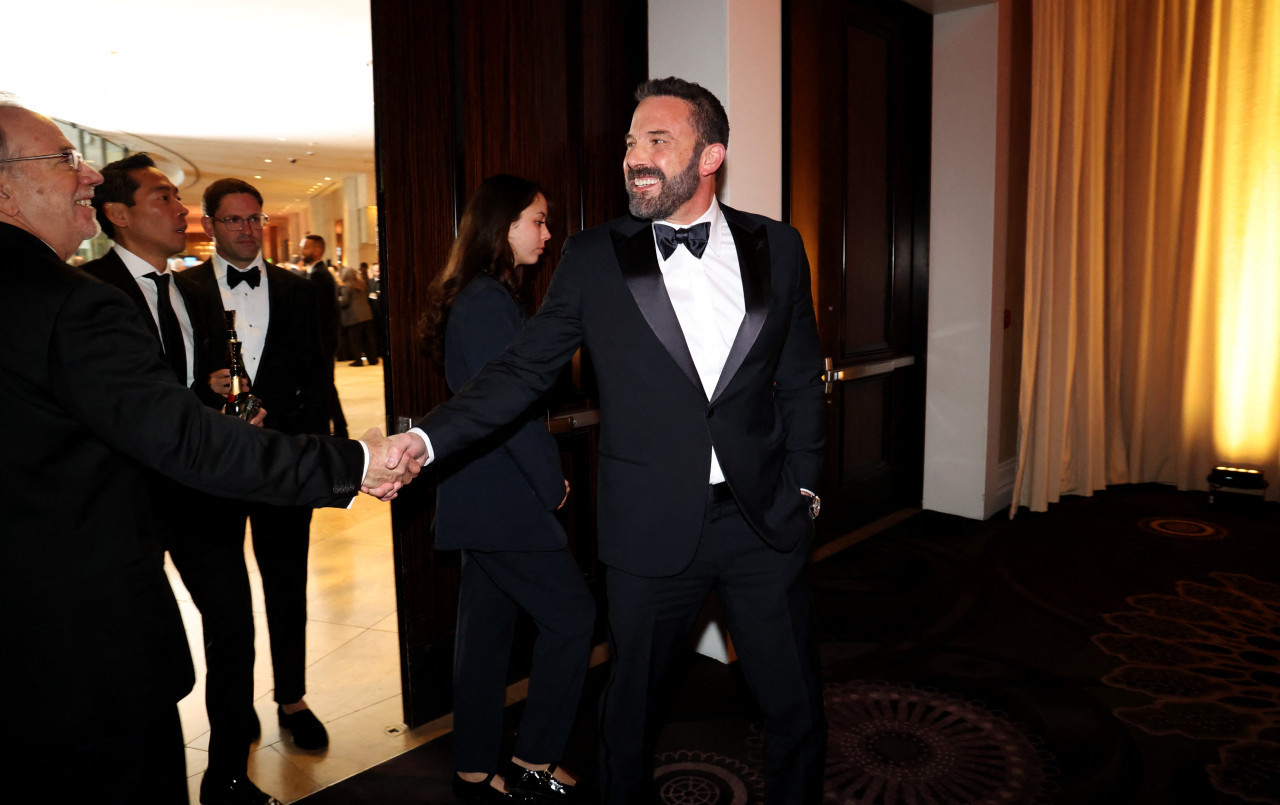
[(581, 283), (589, 266), (579, 255), (570, 238), (543, 306), (511, 347), (453, 399), (413, 424), (431, 439), (436, 456), (451, 456), (513, 421), (556, 383), (582, 343)]

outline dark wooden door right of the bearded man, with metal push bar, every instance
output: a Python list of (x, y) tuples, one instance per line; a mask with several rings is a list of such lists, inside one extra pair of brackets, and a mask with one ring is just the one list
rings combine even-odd
[(919, 506), (932, 19), (899, 0), (788, 8), (788, 202), (828, 361), (827, 538)]

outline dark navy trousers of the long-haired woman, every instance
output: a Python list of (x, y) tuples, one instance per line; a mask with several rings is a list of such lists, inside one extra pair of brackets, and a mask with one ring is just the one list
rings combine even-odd
[(515, 755), (554, 763), (582, 697), (595, 602), (568, 549), (463, 550), (453, 657), (453, 768), (499, 770), (507, 664), (524, 609), (538, 627)]

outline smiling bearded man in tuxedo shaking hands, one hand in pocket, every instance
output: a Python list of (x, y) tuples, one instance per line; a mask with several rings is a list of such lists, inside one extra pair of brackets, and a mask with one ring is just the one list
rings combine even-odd
[(809, 264), (795, 229), (717, 202), (728, 120), (710, 92), (668, 78), (636, 100), (632, 215), (571, 237), (512, 347), (396, 442), (449, 456), (585, 347), (602, 415), (607, 800), (650, 801), (650, 692), (714, 590), (764, 713), (765, 799), (817, 802), (826, 719), (804, 572), (823, 436)]

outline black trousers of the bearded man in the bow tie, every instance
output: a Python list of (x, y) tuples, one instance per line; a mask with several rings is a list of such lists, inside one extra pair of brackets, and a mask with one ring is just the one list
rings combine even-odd
[(612, 673), (600, 708), (605, 802), (655, 801), (653, 692), (713, 590), (764, 713), (765, 802), (822, 800), (827, 721), (810, 635), (808, 559), (808, 541), (778, 552), (746, 523), (736, 503), (709, 497), (698, 552), (682, 572), (649, 578), (608, 568)]

